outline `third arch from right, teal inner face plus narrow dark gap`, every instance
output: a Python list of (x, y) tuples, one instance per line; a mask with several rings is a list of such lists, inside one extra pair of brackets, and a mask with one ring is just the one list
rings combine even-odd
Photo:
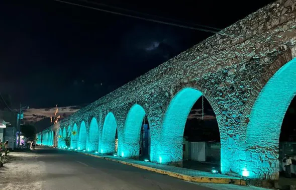
[(133, 105), (125, 121), (123, 143), (120, 156), (141, 160), (150, 160), (150, 132), (148, 118), (144, 109)]

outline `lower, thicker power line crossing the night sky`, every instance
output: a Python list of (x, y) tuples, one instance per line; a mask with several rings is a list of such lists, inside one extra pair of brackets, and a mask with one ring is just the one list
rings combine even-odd
[(102, 11), (102, 12), (106, 12), (106, 13), (111, 13), (111, 14), (115, 14), (115, 15), (130, 17), (130, 18), (134, 18), (134, 19), (140, 19), (140, 20), (144, 20), (144, 21), (155, 22), (155, 23), (159, 23), (159, 24), (165, 24), (165, 25), (170, 25), (170, 26), (175, 26), (175, 27), (180, 27), (180, 28), (186, 28), (186, 29), (191, 29), (191, 30), (198, 30), (198, 31), (202, 31), (202, 32), (209, 32), (209, 33), (213, 33), (213, 34), (217, 34), (218, 33), (218, 31), (214, 31), (214, 30), (208, 30), (208, 29), (202, 29), (202, 28), (194, 28), (194, 27), (180, 25), (180, 24), (175, 24), (175, 23), (158, 21), (158, 20), (155, 20), (155, 19), (146, 19), (146, 18), (143, 18), (143, 17), (132, 16), (132, 15), (128, 15), (128, 14), (118, 13), (118, 12), (114, 12), (114, 11), (108, 11), (108, 10), (94, 8), (94, 7), (90, 7), (90, 6), (84, 6), (84, 5), (80, 5), (80, 4), (74, 4), (74, 3), (65, 2), (65, 1), (61, 1), (61, 0), (53, 0), (53, 1), (64, 3), (64, 4), (69, 4), (69, 5), (74, 5), (74, 6), (78, 6), (78, 7), (83, 7), (83, 8), (87, 8), (87, 9), (92, 9), (92, 10), (96, 10), (96, 11)]

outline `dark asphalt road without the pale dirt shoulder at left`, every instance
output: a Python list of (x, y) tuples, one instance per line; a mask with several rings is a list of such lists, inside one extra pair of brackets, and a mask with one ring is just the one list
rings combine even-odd
[(213, 189), (133, 166), (52, 148), (34, 151), (42, 189)]

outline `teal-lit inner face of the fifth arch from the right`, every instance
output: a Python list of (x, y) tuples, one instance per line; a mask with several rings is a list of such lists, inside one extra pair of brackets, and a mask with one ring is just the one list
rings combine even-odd
[(87, 151), (93, 152), (98, 149), (98, 125), (96, 119), (93, 117), (89, 124)]

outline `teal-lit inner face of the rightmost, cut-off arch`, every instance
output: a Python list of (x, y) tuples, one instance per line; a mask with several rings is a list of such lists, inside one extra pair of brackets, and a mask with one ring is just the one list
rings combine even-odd
[(296, 95), (296, 58), (284, 64), (261, 89), (247, 126), (246, 163), (241, 174), (278, 179), (281, 124)]

